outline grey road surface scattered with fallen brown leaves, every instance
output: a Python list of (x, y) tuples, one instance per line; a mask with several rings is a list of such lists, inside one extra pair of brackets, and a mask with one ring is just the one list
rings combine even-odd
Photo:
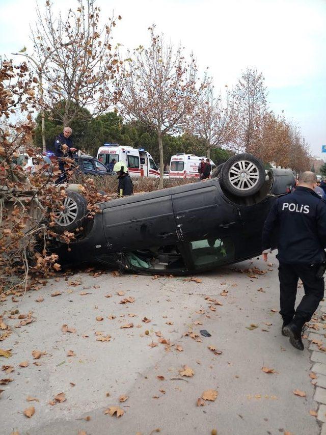
[[(0, 347), (11, 348), (12, 356), (0, 361), (14, 371), (1, 376), (13, 381), (1, 386), (0, 433), (148, 435), (159, 429), (164, 435), (208, 435), (216, 429), (220, 435), (319, 434), (318, 420), (310, 415), (317, 403), (309, 343), (305, 340), (301, 352), (280, 334), (277, 260), (272, 255), (270, 261), (273, 266), (254, 259), (196, 276), (201, 283), (79, 273), (67, 281), (52, 279), (20, 303), (8, 298), (2, 312), (12, 333)], [(248, 271), (254, 266), (259, 269)], [(259, 275), (261, 269), (266, 273)], [(51, 296), (56, 291), (62, 294)], [(40, 296), (44, 301), (36, 302)], [(128, 297), (134, 302), (120, 303)], [(31, 312), (34, 321), (15, 328), (20, 320), (8, 318), (15, 308)], [(63, 332), (64, 324), (76, 332)], [(96, 340), (108, 335), (110, 341)], [(35, 360), (33, 350), (46, 354)], [(75, 356), (68, 357), (69, 350)], [(318, 354), (324, 355), (315, 348), (314, 364), (320, 364)], [(22, 361), (29, 366), (19, 367)], [(193, 376), (179, 373), (184, 365)], [(197, 406), (206, 390), (217, 391), (218, 397)], [(61, 392), (63, 402), (54, 399)], [(122, 395), (128, 398), (119, 402)], [(28, 402), (28, 396), (39, 401)], [(23, 415), (29, 406), (35, 407), (31, 418)], [(112, 406), (124, 415), (105, 415)]]

